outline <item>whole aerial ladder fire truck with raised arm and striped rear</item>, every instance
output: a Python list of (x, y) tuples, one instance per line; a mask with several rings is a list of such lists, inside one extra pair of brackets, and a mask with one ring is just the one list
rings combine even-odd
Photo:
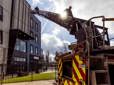
[[(57, 85), (114, 85), (114, 47), (110, 46), (108, 28), (105, 27), (105, 21), (113, 21), (114, 18), (96, 16), (84, 20), (75, 18), (71, 7), (65, 11), (65, 19), (38, 7), (31, 11), (66, 28), (77, 39), (69, 45), (72, 51), (56, 52)], [(102, 19), (103, 26), (92, 21), (96, 18)]]

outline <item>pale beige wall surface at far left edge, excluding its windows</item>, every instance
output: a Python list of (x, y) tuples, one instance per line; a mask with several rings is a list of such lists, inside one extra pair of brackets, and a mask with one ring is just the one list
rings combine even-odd
[[(3, 44), (0, 44), (0, 64), (5, 65), (7, 62), (9, 29), (10, 29), (10, 14), (12, 0), (0, 0), (0, 5), (3, 7), (3, 21), (0, 21), (0, 30), (3, 31)], [(0, 68), (1, 73), (1, 68)]]

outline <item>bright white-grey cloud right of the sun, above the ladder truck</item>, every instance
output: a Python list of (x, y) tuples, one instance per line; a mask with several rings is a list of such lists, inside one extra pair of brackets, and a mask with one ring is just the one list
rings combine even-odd
[[(93, 16), (104, 15), (106, 17), (114, 17), (114, 0), (53, 0), (55, 10), (63, 10), (72, 6), (73, 15), (82, 19), (89, 19)], [(102, 26), (102, 22), (96, 21)], [(114, 22), (106, 22), (109, 28), (109, 34), (114, 34)]]

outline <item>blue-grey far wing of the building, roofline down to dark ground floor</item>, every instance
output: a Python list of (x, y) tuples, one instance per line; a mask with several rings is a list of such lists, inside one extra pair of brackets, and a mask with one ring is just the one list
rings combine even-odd
[(41, 61), (41, 22), (34, 15), (30, 17), (30, 35), (34, 36), (34, 40), (27, 43), (29, 53), (27, 67), (28, 71), (38, 72)]

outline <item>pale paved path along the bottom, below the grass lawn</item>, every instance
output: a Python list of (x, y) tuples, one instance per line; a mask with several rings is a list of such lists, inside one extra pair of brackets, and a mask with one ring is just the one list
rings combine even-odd
[(47, 81), (33, 81), (33, 82), (24, 82), (24, 83), (11, 83), (3, 85), (53, 85), (54, 80)]

